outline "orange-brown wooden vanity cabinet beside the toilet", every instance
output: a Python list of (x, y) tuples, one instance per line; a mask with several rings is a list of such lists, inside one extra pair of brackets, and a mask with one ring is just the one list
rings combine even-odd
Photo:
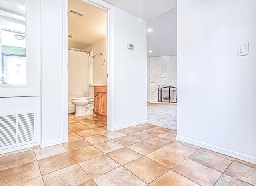
[(94, 113), (107, 116), (107, 86), (94, 86)]

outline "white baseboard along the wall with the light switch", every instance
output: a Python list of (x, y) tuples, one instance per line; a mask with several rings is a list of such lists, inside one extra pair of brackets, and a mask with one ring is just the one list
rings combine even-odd
[(186, 143), (189, 143), (189, 144), (192, 144), (192, 145), (196, 145), (196, 146), (208, 149), (208, 150), (212, 150), (212, 151), (218, 152), (220, 154), (231, 156), (231, 157), (237, 158), (239, 160), (244, 160), (246, 162), (256, 164), (256, 157), (248, 156), (246, 154), (241, 154), (239, 152), (234, 152), (232, 150), (228, 150), (228, 149), (221, 148), (221, 147), (218, 147), (218, 146), (214, 146), (214, 145), (211, 145), (211, 144), (207, 144), (207, 143), (204, 143), (204, 142), (199, 142), (199, 141), (192, 140), (192, 139), (189, 139), (189, 138), (184, 138), (182, 136), (177, 136), (176, 140), (186, 142)]

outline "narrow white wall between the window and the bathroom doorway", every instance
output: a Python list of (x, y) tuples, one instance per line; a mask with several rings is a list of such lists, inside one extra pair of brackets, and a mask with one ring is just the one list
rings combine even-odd
[[(62, 33), (63, 24), (67, 20), (63, 16), (62, 6), (65, 1), (40, 1), (41, 8), (41, 112), (42, 112), (42, 141), (41, 147), (65, 142), (63, 130), (67, 130), (68, 98), (67, 88), (63, 80), (64, 63)], [(66, 13), (65, 13), (66, 16)], [(66, 33), (67, 35), (67, 33)], [(66, 36), (65, 36), (66, 37)], [(67, 39), (67, 38), (66, 38)], [(68, 46), (66, 46), (68, 48)], [(65, 65), (63, 67), (63, 65)], [(67, 75), (66, 75), (67, 76)], [(66, 114), (64, 114), (66, 112)]]

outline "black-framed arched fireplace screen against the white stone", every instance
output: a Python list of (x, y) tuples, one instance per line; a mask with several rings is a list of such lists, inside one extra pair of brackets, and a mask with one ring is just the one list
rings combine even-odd
[(158, 88), (158, 102), (177, 103), (177, 87), (165, 86)]

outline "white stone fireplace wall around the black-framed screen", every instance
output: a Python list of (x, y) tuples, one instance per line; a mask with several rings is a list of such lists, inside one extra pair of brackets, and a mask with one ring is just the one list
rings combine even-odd
[(149, 102), (158, 102), (158, 87), (177, 87), (177, 56), (149, 57)]

